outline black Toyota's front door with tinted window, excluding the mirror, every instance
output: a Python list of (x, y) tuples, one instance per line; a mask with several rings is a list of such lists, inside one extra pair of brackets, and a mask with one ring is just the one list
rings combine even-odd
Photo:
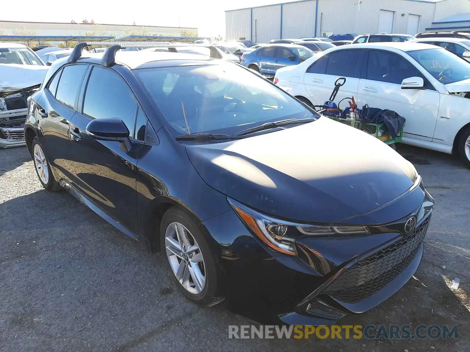
[[(79, 190), (128, 230), (137, 233), (136, 165), (142, 143), (131, 138), (129, 152), (118, 141), (102, 141), (86, 133), (93, 119), (118, 117), (133, 136), (137, 100), (113, 69), (93, 66), (80, 112), (71, 123), (71, 155)], [(124, 149), (124, 150), (123, 150)]]

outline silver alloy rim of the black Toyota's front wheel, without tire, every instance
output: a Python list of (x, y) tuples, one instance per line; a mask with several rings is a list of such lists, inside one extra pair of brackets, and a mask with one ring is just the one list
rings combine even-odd
[(180, 284), (192, 294), (201, 293), (206, 283), (206, 270), (203, 255), (191, 232), (179, 222), (172, 222), (165, 231), (165, 248)]

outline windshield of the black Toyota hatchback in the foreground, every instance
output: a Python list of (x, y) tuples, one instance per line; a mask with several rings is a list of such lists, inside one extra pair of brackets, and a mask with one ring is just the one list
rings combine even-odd
[(173, 137), (234, 135), (265, 122), (318, 116), (265, 78), (233, 63), (136, 69)]

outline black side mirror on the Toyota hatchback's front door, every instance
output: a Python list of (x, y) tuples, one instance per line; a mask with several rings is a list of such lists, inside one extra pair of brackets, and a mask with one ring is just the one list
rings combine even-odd
[(129, 130), (121, 119), (94, 119), (86, 125), (86, 133), (97, 140), (117, 141), (121, 150), (129, 152), (132, 149)]

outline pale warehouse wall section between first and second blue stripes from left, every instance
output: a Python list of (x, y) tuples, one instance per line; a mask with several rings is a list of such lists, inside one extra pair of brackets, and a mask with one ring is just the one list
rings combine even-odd
[(253, 8), (252, 38), (257, 43), (266, 43), (281, 36), (281, 5)]

